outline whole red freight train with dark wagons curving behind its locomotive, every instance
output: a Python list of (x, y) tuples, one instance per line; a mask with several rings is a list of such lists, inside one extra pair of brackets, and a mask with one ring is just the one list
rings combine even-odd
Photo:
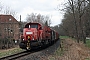
[(48, 26), (39, 23), (27, 23), (23, 29), (21, 49), (30, 50), (33, 47), (52, 44), (59, 39), (59, 34)]

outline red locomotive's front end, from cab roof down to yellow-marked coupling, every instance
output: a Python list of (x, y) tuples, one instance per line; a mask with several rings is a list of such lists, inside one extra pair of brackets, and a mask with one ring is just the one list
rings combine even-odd
[(40, 45), (42, 39), (42, 27), (39, 23), (28, 23), (23, 29), (23, 39), (22, 42), (25, 44), (26, 49), (33, 46)]

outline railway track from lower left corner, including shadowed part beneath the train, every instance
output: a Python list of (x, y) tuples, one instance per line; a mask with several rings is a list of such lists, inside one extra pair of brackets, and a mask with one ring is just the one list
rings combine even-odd
[[(53, 45), (53, 44), (51, 44), (51, 45)], [(22, 58), (24, 56), (27, 56), (29, 54), (32, 54), (34, 52), (44, 50), (45, 48), (48, 48), (51, 45), (46, 45), (46, 46), (43, 46), (42, 48), (38, 47), (38, 48), (35, 48), (33, 50), (30, 50), (30, 51), (23, 51), (23, 52), (20, 52), (20, 53), (17, 53), (17, 54), (13, 54), (13, 55), (10, 55), (10, 56), (2, 57), (2, 58), (0, 58), (0, 60), (16, 60), (16, 59)]]

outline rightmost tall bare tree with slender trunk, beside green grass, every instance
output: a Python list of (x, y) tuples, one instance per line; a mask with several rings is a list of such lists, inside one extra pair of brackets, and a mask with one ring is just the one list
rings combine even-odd
[(83, 40), (84, 43), (86, 43), (85, 38), (86, 38), (86, 34), (85, 34), (85, 23), (82, 20), (82, 17), (87, 9), (87, 1), (86, 0), (77, 0), (77, 12), (78, 12), (78, 20), (79, 20), (79, 27), (80, 27), (80, 39)]

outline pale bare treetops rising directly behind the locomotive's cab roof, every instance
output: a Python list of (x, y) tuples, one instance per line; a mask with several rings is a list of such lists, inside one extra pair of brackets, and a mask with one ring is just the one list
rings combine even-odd
[(39, 22), (42, 25), (45, 25), (46, 21), (48, 22), (49, 25), (51, 24), (51, 20), (48, 16), (44, 16), (36, 13), (28, 14), (26, 17), (26, 20), (27, 22)]

